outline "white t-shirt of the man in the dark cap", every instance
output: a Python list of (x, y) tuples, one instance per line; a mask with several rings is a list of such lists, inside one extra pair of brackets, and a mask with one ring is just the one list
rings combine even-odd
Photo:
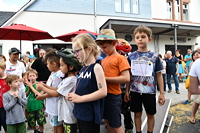
[[(9, 60), (6, 61), (6, 74), (7, 75), (18, 75), (22, 78), (22, 73), (26, 73), (26, 68), (24, 63), (17, 61), (16, 65), (13, 65)], [(20, 83), (20, 90), (23, 89), (25, 91), (25, 86), (21, 82)]]

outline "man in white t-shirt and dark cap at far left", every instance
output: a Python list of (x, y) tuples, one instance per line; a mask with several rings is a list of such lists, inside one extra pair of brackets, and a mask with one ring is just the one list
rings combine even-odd
[(26, 75), (26, 69), (24, 63), (18, 61), (20, 50), (17, 48), (11, 48), (9, 51), (9, 60), (6, 61), (6, 74), (7, 75), (18, 75), (20, 77), (20, 89), (25, 89), (23, 84), (23, 77)]

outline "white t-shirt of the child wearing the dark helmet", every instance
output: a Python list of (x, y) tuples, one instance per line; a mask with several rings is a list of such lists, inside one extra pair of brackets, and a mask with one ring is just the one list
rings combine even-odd
[(74, 91), (76, 80), (75, 76), (71, 76), (63, 79), (58, 85), (57, 92), (61, 95), (58, 100), (58, 121), (64, 121), (67, 124), (74, 124), (77, 121), (72, 112), (74, 104), (65, 99), (67, 93)]

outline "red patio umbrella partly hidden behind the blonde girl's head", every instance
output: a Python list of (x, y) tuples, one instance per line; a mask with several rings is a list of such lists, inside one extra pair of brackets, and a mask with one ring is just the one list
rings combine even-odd
[(83, 33), (91, 33), (91, 34), (93, 34), (95, 36), (98, 35), (95, 32), (87, 31), (85, 29), (80, 29), (80, 30), (75, 31), (75, 32), (71, 32), (71, 33), (67, 33), (67, 34), (64, 34), (64, 35), (57, 36), (55, 38), (57, 38), (59, 40), (62, 40), (62, 41), (65, 41), (65, 42), (71, 42), (73, 37), (75, 37), (78, 34), (83, 34)]

